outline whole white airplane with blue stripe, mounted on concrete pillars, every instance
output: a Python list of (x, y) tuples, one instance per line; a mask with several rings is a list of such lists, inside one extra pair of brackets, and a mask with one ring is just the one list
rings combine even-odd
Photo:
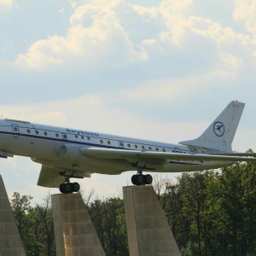
[(131, 183), (152, 183), (143, 172), (192, 172), (255, 161), (255, 154), (235, 153), (231, 144), (245, 104), (233, 101), (200, 137), (178, 144), (117, 137), (86, 130), (0, 119), (0, 157), (30, 157), (42, 165), (38, 185), (79, 192), (70, 178), (92, 173), (136, 171)]

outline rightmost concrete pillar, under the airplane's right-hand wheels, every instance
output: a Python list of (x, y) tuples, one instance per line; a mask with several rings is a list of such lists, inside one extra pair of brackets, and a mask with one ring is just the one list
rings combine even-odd
[(123, 187), (131, 256), (180, 256), (152, 186)]

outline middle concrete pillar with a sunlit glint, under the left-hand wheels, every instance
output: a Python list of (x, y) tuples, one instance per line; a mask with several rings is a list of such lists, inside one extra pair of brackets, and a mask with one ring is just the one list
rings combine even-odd
[(80, 194), (52, 195), (57, 256), (105, 256)]

